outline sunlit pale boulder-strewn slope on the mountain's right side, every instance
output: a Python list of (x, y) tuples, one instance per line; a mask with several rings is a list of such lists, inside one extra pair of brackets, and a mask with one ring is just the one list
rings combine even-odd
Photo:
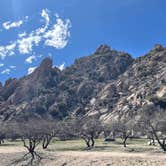
[(89, 112), (101, 113), (101, 119), (109, 121), (113, 116), (137, 114), (152, 98), (158, 97), (156, 103), (162, 99), (160, 103), (166, 106), (165, 88), (166, 49), (157, 45), (145, 56), (137, 58), (117, 80), (103, 87)]

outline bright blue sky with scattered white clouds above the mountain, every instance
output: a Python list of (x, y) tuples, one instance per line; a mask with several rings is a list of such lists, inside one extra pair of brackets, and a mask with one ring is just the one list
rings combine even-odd
[(165, 0), (0, 1), (0, 81), (50, 56), (63, 70), (101, 44), (142, 56), (166, 43)]

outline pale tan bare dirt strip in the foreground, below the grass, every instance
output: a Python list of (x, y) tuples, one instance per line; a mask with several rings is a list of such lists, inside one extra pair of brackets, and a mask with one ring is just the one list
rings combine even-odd
[[(0, 147), (0, 166), (25, 154), (23, 147)], [(98, 151), (47, 151), (40, 166), (166, 166), (166, 154)]]

